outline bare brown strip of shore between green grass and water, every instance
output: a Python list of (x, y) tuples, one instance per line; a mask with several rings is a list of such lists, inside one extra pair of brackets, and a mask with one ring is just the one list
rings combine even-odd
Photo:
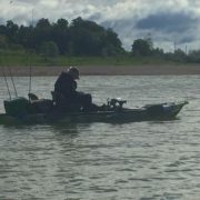
[[(142, 64), (142, 66), (76, 66), (80, 70), (81, 76), (186, 76), (200, 74), (200, 64)], [(12, 76), (27, 77), (30, 74), (29, 67), (9, 67)], [(0, 77), (10, 72), (7, 68), (0, 67)], [(32, 67), (31, 74), (33, 77), (58, 76), (68, 67)]]

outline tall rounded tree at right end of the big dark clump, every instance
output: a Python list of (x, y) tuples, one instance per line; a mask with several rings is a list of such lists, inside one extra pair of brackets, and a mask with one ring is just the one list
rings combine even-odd
[(80, 17), (72, 21), (70, 36), (74, 54), (114, 56), (124, 51), (116, 32)]

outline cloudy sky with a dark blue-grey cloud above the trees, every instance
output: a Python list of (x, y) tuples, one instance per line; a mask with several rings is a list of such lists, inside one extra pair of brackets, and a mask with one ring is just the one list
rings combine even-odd
[(112, 28), (127, 50), (147, 37), (166, 52), (200, 49), (200, 0), (0, 0), (0, 24), (78, 17)]

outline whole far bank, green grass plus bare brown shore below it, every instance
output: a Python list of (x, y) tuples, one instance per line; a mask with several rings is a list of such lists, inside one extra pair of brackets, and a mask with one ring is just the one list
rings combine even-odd
[(44, 59), (34, 53), (22, 51), (0, 52), (0, 77), (3, 71), (13, 76), (58, 76), (69, 66), (77, 66), (86, 76), (160, 76), (160, 74), (200, 74), (199, 64), (170, 62), (153, 57), (67, 57)]

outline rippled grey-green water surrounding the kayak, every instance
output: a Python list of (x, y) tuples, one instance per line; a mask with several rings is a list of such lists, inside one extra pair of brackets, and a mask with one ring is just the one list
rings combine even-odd
[[(188, 100), (173, 121), (0, 126), (0, 200), (182, 200), (200, 197), (199, 76), (82, 77), (93, 100), (127, 107)], [(49, 98), (56, 77), (33, 78)], [(28, 78), (14, 78), (18, 93)], [(8, 98), (0, 80), (0, 111)]]

